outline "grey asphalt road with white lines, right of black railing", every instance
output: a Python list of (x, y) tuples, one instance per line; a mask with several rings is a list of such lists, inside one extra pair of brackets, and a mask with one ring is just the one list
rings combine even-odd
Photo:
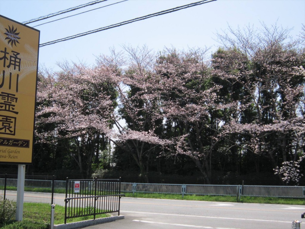
[[(300, 205), (121, 198), (120, 214), (124, 220), (86, 229), (287, 229), (293, 220), (301, 220), (304, 211)], [(301, 228), (305, 229), (304, 223)]]

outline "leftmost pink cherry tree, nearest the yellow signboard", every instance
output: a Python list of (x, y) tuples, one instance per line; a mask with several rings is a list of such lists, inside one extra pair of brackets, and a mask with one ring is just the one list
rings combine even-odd
[(75, 149), (69, 149), (70, 155), (80, 173), (88, 177), (100, 140), (111, 134), (116, 93), (106, 81), (106, 68), (96, 71), (78, 64), (60, 66), (62, 71), (40, 77), (36, 123), (51, 128), (43, 132), (36, 129), (36, 135), (41, 142), (68, 139), (66, 148)]

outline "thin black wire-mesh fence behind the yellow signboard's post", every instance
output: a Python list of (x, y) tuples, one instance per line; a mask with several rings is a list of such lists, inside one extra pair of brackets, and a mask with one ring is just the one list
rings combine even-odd
[[(17, 175), (0, 174), (0, 196), (3, 199), (16, 201)], [(4, 179), (3, 179), (4, 178)], [(34, 178), (34, 179), (33, 179)], [(50, 205), (54, 202), (54, 176), (38, 177), (26, 176), (24, 182), (23, 217), (30, 219), (49, 219)]]

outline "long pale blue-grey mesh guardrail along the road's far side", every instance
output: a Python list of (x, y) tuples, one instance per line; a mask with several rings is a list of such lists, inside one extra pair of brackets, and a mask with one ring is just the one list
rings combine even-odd
[[(0, 176), (0, 195), (4, 195), (5, 179)], [(17, 187), (17, 179), (8, 177), (7, 186)], [(35, 183), (36, 182), (36, 183)], [(91, 182), (93, 182), (91, 180)], [(93, 187), (86, 183), (82, 186)], [(51, 187), (50, 180), (26, 179), (25, 186)], [(66, 181), (55, 180), (56, 189), (66, 189)], [(195, 195), (228, 195), (228, 196), (261, 196), (283, 198), (305, 198), (304, 186), (260, 186), (260, 185), (206, 185), (206, 184), (146, 184), (121, 183), (122, 192), (167, 193), (167, 194), (195, 194)], [(39, 190), (38, 190), (39, 192)], [(41, 195), (41, 194), (39, 194)], [(50, 197), (51, 198), (51, 197)], [(29, 202), (31, 200), (28, 200)], [(51, 201), (50, 201), (51, 203)]]

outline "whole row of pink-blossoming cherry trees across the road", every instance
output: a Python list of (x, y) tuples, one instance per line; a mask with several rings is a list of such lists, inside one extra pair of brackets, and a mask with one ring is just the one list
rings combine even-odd
[(93, 67), (63, 63), (62, 71), (42, 72), (37, 151), (69, 154), (87, 177), (113, 142), (113, 166), (128, 163), (145, 177), (170, 171), (177, 158), (196, 165), (205, 183), (214, 173), (255, 168), (297, 184), (305, 151), (304, 34), (292, 40), (289, 30), (264, 25), (217, 36), (221, 47), (211, 58), (208, 49), (157, 55), (123, 46)]

